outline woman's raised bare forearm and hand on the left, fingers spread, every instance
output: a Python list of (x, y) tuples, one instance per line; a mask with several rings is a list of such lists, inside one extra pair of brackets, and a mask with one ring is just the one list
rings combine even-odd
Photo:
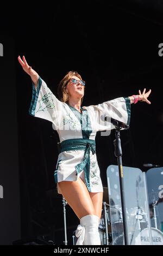
[(32, 69), (32, 67), (30, 67), (26, 61), (26, 58), (23, 56), (23, 59), (21, 59), (20, 56), (18, 56), (18, 62), (21, 64), (23, 70), (30, 75), (30, 78), (32, 79), (34, 85), (35, 85), (35, 89), (37, 87), (37, 82), (39, 80), (39, 75), (35, 72), (34, 69)]

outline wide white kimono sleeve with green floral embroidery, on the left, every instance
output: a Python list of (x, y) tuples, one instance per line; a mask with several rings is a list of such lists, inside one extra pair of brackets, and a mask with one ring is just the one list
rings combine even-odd
[(29, 115), (40, 117), (52, 122), (55, 128), (59, 127), (59, 116), (62, 111), (62, 103), (58, 100), (51, 90), (47, 87), (45, 81), (40, 77), (37, 88), (34, 84), (32, 91), (32, 101), (30, 103)]

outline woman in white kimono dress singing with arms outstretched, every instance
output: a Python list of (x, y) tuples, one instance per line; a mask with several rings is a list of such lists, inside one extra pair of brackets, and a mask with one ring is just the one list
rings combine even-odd
[(129, 124), (130, 104), (138, 100), (151, 104), (146, 89), (139, 96), (117, 98), (98, 105), (81, 106), (85, 81), (77, 72), (68, 72), (58, 87), (59, 99), (18, 56), (23, 70), (33, 82), (29, 114), (52, 122), (60, 139), (60, 153), (54, 172), (58, 193), (62, 194), (80, 219), (76, 230), (77, 245), (101, 245), (98, 227), (102, 213), (103, 186), (96, 158), (95, 136), (98, 131), (114, 128), (104, 116)]

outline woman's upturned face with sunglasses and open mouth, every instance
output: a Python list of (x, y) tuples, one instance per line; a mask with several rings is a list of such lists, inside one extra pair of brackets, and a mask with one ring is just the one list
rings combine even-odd
[[(74, 80), (76, 79), (76, 80)], [(65, 91), (69, 97), (82, 98), (84, 96), (84, 85), (81, 84), (80, 79), (73, 75), (66, 85)]]

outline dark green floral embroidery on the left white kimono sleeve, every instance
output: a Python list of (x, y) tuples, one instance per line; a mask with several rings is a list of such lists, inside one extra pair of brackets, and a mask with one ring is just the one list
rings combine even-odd
[(52, 92), (46, 93), (42, 96), (40, 100), (38, 100), (40, 106), (39, 106), (39, 109), (37, 109), (36, 113), (39, 111), (45, 111), (47, 108), (48, 109), (55, 108), (53, 98), (51, 97), (52, 94), (53, 94)]

